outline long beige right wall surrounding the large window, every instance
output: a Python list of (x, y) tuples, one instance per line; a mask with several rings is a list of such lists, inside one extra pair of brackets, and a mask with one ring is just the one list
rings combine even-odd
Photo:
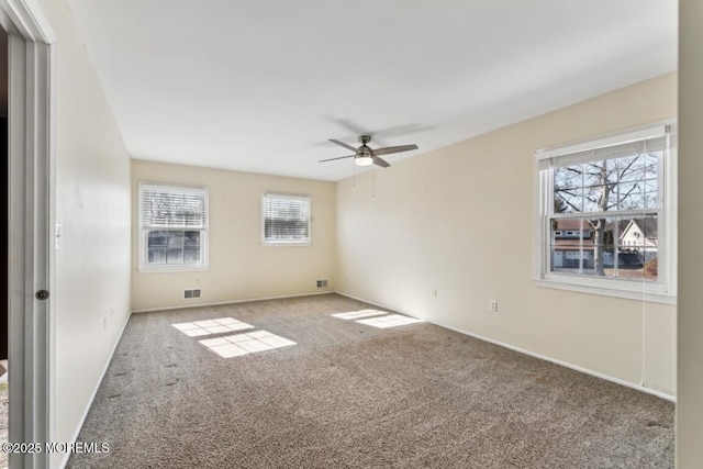
[(532, 277), (534, 152), (673, 118), (676, 97), (667, 75), (400, 161), (376, 200), (368, 174), (339, 182), (337, 290), (673, 395), (674, 306)]

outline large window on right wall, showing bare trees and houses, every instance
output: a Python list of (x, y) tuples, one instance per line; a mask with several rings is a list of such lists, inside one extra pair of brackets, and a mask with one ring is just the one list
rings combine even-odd
[(543, 284), (673, 302), (670, 125), (537, 152)]

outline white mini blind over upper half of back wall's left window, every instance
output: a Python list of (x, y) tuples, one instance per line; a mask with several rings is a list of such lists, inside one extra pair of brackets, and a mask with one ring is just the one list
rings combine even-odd
[(208, 190), (142, 185), (143, 228), (200, 228), (208, 226)]

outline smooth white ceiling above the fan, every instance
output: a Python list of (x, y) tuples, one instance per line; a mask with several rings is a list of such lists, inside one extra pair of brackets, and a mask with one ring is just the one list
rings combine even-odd
[(68, 4), (134, 158), (313, 179), (677, 69), (677, 0)]

